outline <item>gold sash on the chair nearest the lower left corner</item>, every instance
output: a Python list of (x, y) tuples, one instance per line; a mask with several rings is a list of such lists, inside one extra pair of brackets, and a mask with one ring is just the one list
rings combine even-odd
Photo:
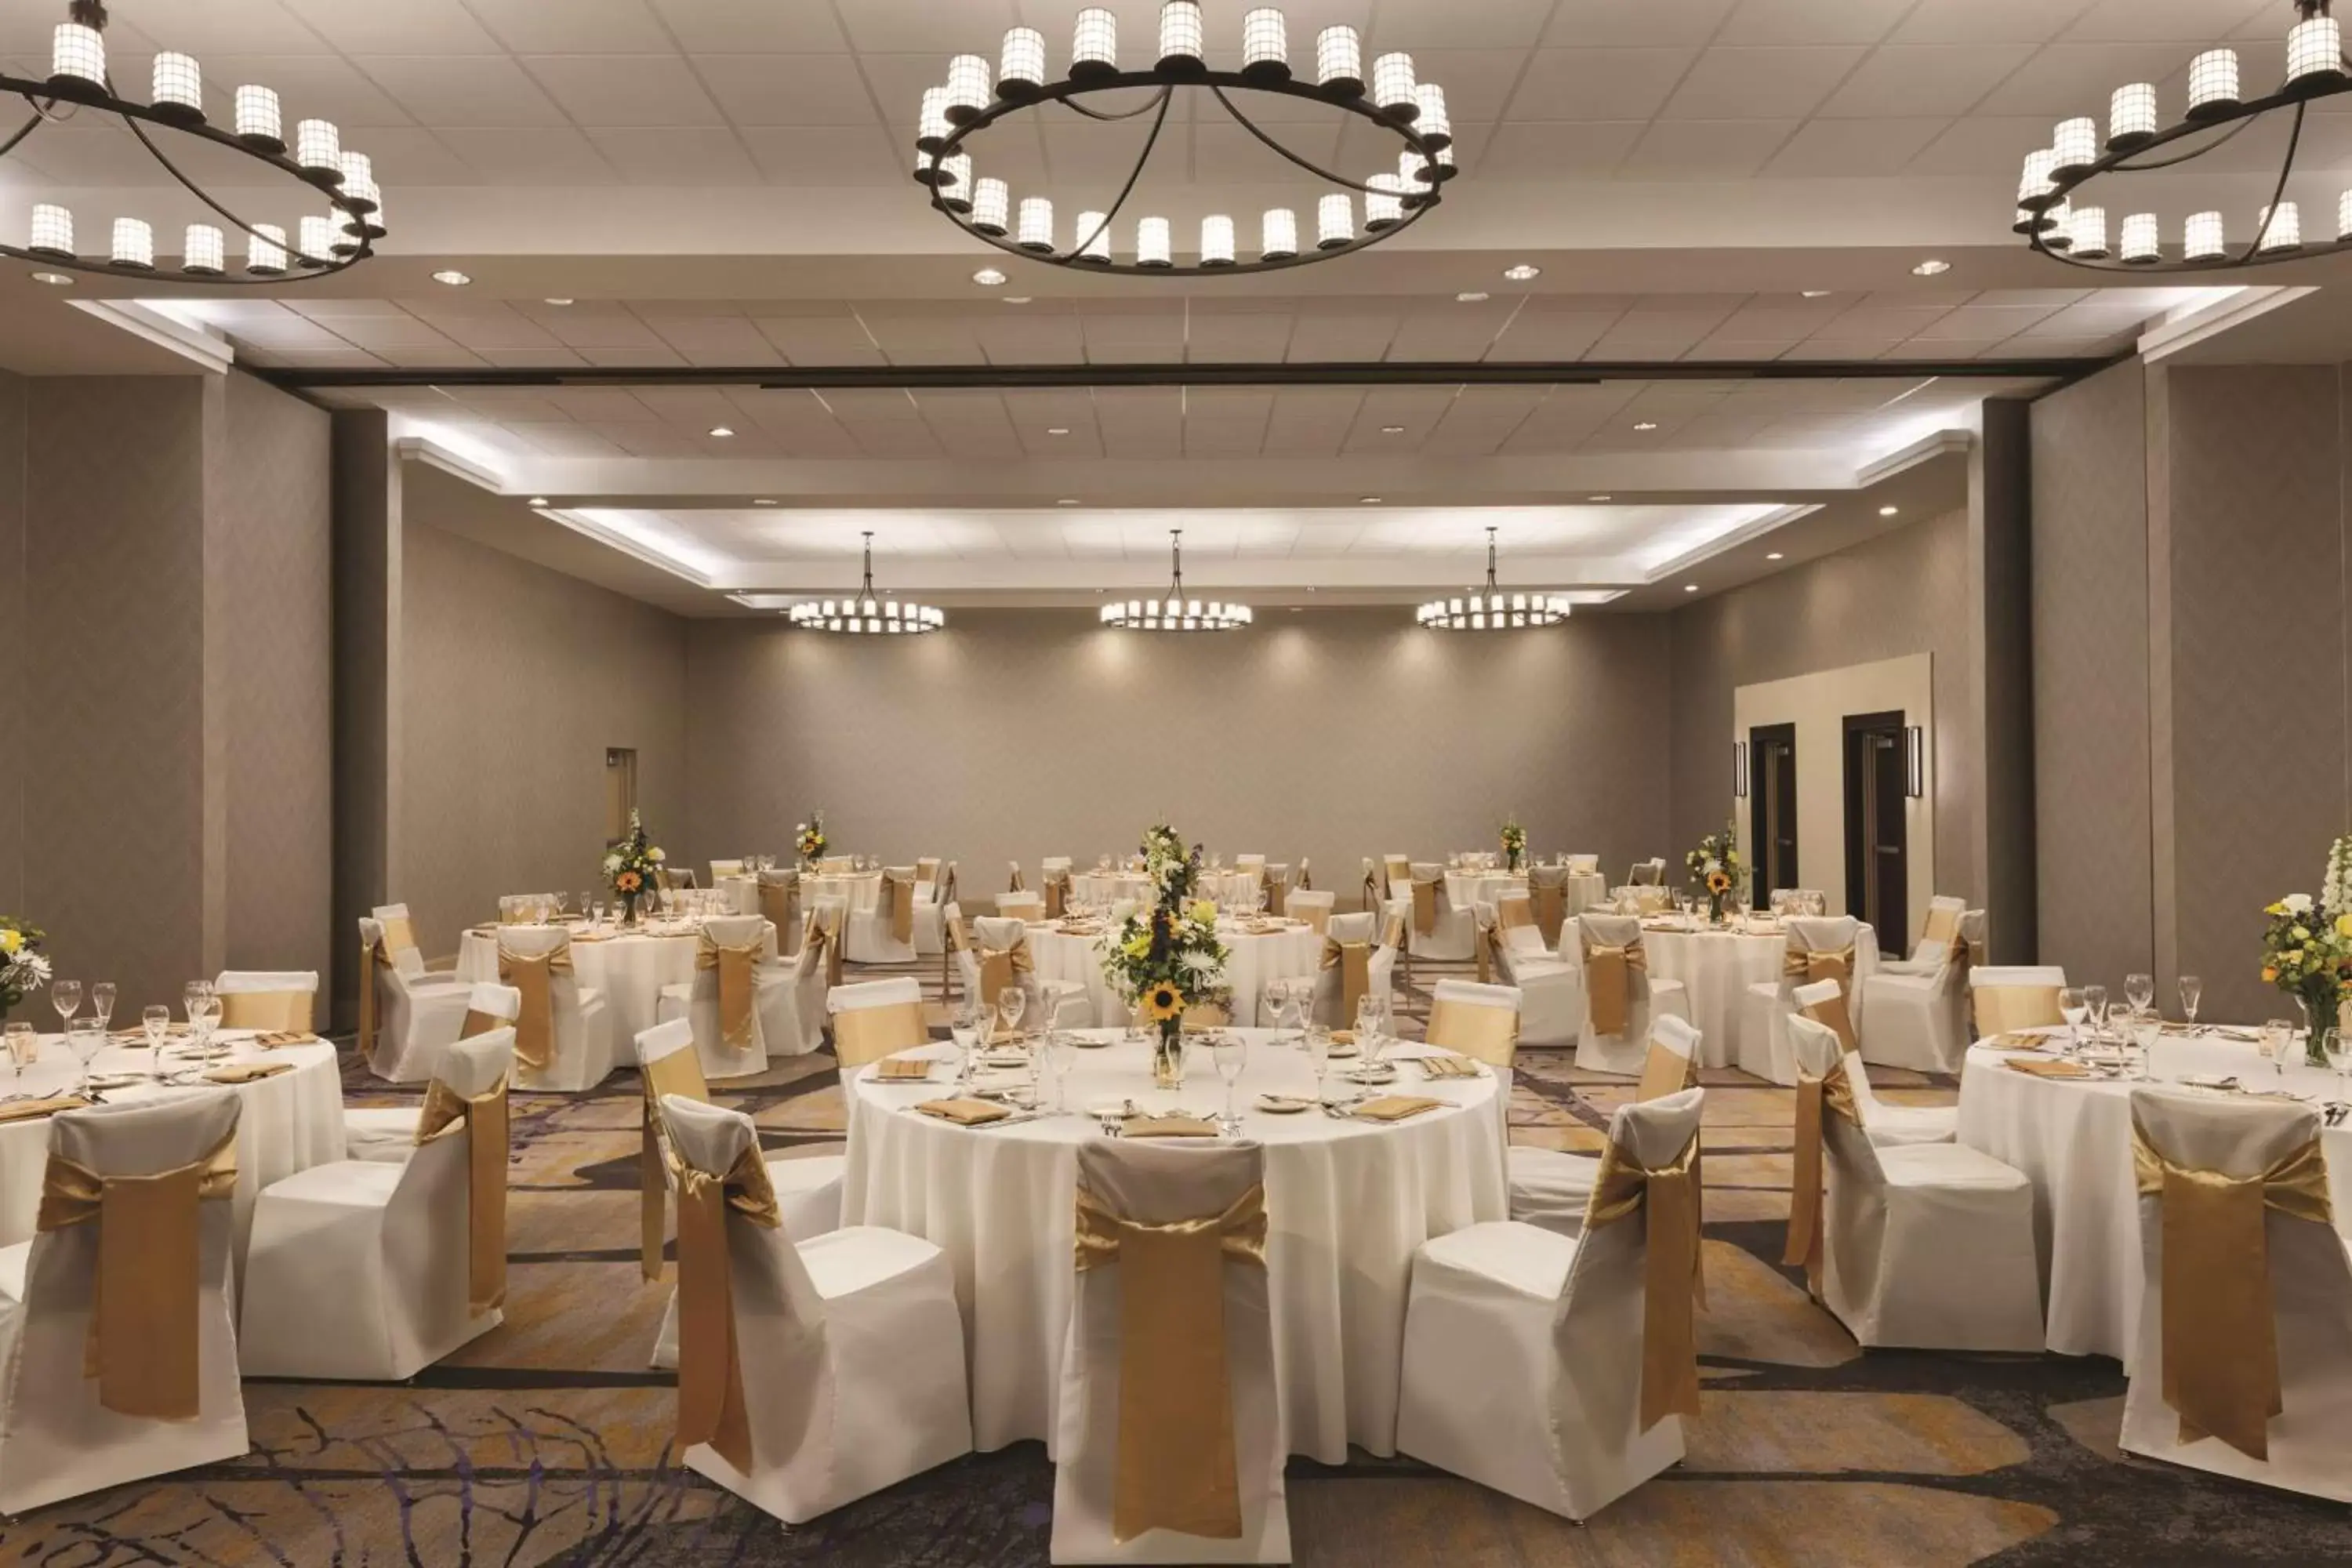
[(92, 1220), (99, 1227), (82, 1375), (99, 1380), (99, 1403), (115, 1415), (195, 1420), (202, 1399), (195, 1206), (235, 1190), (235, 1128), (195, 1164), (153, 1175), (99, 1175), (49, 1154), (35, 1227), (52, 1232)]

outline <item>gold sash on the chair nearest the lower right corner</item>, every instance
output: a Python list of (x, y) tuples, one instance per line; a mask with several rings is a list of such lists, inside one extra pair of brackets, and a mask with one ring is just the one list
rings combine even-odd
[(2171, 1164), (2133, 1117), (2131, 1168), (2164, 1222), (2164, 1403), (2180, 1413), (2180, 1441), (2218, 1436), (2267, 1460), (2284, 1399), (2263, 1211), (2336, 1222), (2319, 1138), (2267, 1171), (2225, 1175)]

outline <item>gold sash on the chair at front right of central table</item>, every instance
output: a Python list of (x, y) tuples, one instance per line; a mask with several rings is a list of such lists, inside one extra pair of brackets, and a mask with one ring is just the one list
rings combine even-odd
[(1609, 1143), (1585, 1204), (1585, 1234), (1642, 1215), (1642, 1432), (1668, 1415), (1698, 1415), (1698, 1331), (1691, 1307), (1708, 1302), (1698, 1272), (1698, 1133), (1672, 1161), (1644, 1168)]

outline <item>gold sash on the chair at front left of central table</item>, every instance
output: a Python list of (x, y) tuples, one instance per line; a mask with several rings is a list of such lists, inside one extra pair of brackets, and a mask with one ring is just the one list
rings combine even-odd
[(760, 1147), (743, 1150), (727, 1175), (670, 1157), (677, 1180), (677, 1448), (710, 1443), (736, 1469), (750, 1469), (750, 1413), (736, 1354), (734, 1269), (727, 1218), (776, 1229), (776, 1187)]

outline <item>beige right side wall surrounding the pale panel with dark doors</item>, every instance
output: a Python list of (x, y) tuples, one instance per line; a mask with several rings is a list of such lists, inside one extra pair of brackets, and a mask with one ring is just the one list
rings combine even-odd
[[(1966, 701), (1969, 515), (1926, 517), (1668, 616), (1675, 656), (1675, 820), (1670, 849), (1715, 832), (1733, 809), (1736, 686), (1929, 654), (1936, 668), (1936, 882), (1969, 886), (1980, 748)], [(1799, 769), (1804, 757), (1799, 755)], [(1839, 820), (1842, 811), (1839, 811)], [(1745, 813), (1740, 830), (1745, 837)], [(1806, 870), (1799, 837), (1797, 865)], [(1806, 886), (1820, 886), (1806, 875)], [(1825, 889), (1828, 891), (1828, 889)], [(1915, 919), (1917, 924), (1917, 919)]]

